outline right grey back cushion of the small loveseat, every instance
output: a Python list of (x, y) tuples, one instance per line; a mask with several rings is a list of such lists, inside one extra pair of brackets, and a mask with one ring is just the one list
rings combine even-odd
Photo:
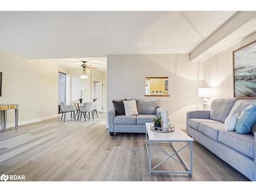
[(156, 115), (156, 108), (160, 108), (160, 99), (137, 99), (137, 109), (140, 115)]

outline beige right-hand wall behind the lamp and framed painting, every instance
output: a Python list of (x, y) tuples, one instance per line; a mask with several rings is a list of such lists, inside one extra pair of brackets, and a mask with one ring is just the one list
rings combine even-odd
[(212, 87), (214, 98), (233, 97), (232, 51), (256, 40), (256, 33), (203, 62), (204, 87)]

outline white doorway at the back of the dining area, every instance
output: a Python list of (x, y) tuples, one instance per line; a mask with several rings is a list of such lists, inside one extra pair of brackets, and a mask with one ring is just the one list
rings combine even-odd
[(104, 106), (104, 83), (102, 81), (93, 81), (93, 98), (96, 104), (97, 112), (103, 112)]

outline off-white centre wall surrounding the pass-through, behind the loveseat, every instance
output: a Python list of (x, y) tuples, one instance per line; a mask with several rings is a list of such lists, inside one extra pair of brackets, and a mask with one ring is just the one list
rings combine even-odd
[[(170, 97), (145, 97), (145, 76), (168, 76)], [(203, 66), (188, 54), (108, 55), (107, 110), (113, 99), (161, 99), (170, 121), (184, 127), (186, 112), (201, 109), (198, 88), (203, 87)]]

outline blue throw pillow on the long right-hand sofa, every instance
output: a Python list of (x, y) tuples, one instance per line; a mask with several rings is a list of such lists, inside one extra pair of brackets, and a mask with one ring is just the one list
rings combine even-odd
[(236, 132), (247, 134), (251, 132), (253, 124), (256, 122), (256, 102), (249, 105), (240, 115), (236, 125)]

